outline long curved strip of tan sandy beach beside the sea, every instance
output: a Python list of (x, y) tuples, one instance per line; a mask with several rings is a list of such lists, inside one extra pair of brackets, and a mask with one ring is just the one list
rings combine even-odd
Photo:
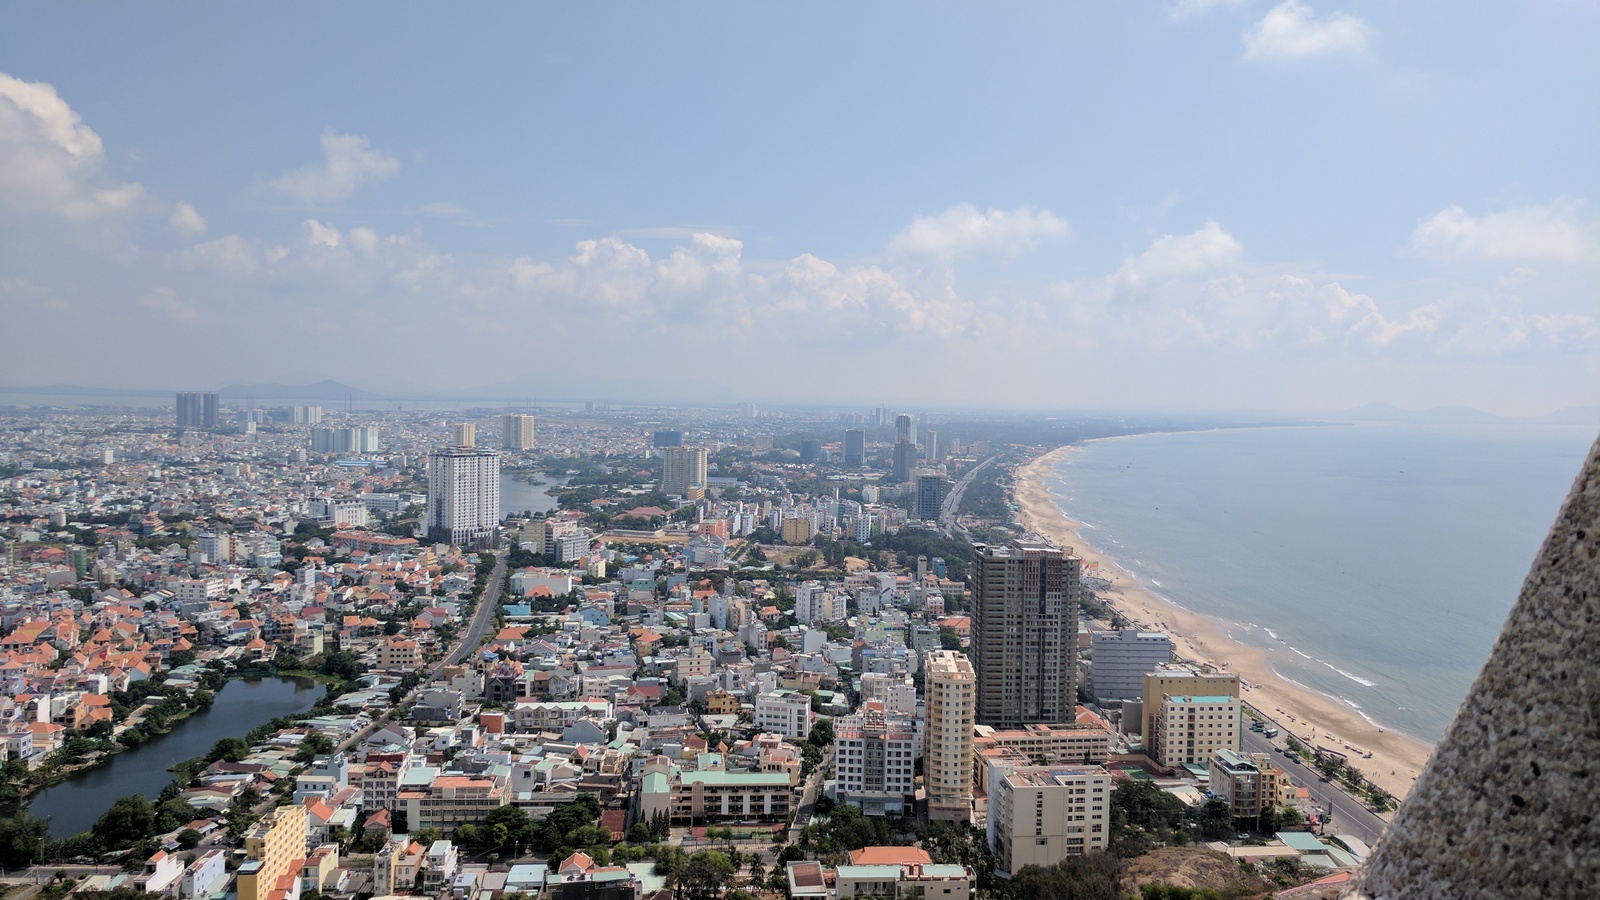
[[(1341, 749), (1350, 765), (1395, 798), (1411, 791), (1432, 746), (1394, 730), (1379, 729), (1339, 701), (1278, 677), (1261, 650), (1230, 641), (1226, 623), (1178, 609), (1122, 570), (1115, 560), (1083, 541), (1078, 522), (1062, 514), (1046, 487), (1054, 464), (1074, 447), (1061, 447), (1018, 469), (1016, 500), (1022, 508), (1021, 525), (1072, 548), (1085, 562), (1099, 564), (1099, 577), (1110, 581), (1101, 599), (1139, 628), (1171, 634), (1178, 655), (1238, 673), (1245, 682), (1243, 700), (1277, 721), (1307, 746)], [(1178, 597), (1179, 602), (1182, 597)], [(1346, 749), (1347, 745), (1360, 753)], [(1362, 754), (1371, 753), (1371, 759)]]

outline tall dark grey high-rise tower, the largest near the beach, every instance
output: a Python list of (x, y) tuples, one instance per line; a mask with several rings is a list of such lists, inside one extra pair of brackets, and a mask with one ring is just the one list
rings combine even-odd
[(979, 725), (1077, 719), (1080, 565), (1043, 543), (973, 549)]

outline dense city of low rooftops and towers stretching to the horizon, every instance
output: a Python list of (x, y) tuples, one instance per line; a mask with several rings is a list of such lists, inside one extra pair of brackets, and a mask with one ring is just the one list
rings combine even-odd
[[(1245, 897), (1392, 806), (1019, 524), (1019, 466), (1157, 424), (394, 405), (0, 418), (30, 890), (1122, 897), (1221, 850)], [(168, 735), (272, 682), (315, 690)], [(40, 815), (139, 751), (152, 796)]]

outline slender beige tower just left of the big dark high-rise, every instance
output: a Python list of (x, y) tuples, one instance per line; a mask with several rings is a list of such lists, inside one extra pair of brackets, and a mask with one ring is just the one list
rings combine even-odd
[(971, 822), (978, 676), (960, 650), (928, 652), (928, 818)]

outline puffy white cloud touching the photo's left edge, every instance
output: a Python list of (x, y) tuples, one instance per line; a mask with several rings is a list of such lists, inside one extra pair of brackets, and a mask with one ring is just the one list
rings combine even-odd
[(106, 151), (56, 88), (0, 72), (0, 197), (5, 207), (88, 219), (126, 210), (139, 184), (101, 178)]

